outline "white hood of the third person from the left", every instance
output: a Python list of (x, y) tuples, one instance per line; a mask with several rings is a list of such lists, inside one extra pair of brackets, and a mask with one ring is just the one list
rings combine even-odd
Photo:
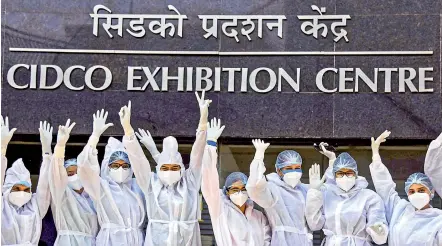
[[(104, 151), (103, 161), (101, 162), (101, 178), (103, 178), (107, 181), (115, 182), (109, 176), (109, 164), (111, 163), (110, 161), (116, 161), (116, 159), (114, 158), (115, 155), (112, 156), (112, 154), (117, 151), (122, 151), (122, 152), (126, 153), (126, 149), (124, 148), (123, 143), (118, 141), (116, 138), (110, 137), (109, 140), (107, 141), (107, 145), (106, 145), (106, 148)], [(111, 157), (112, 157), (112, 159), (111, 159)], [(121, 160), (124, 160), (127, 162), (127, 160), (125, 160), (124, 158), (122, 158)], [(127, 163), (129, 163), (129, 162), (127, 162)], [(132, 180), (133, 170), (132, 170), (132, 168), (130, 168), (129, 170), (130, 170), (130, 175), (123, 181), (123, 183), (128, 182), (129, 180)]]

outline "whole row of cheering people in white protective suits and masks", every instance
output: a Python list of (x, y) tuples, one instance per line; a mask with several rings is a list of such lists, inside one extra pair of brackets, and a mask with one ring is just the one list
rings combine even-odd
[[(107, 128), (108, 112), (93, 115), (93, 131), (76, 159), (65, 160), (65, 148), (75, 126), (59, 126), (52, 151), (53, 128), (40, 122), (42, 164), (35, 193), (30, 173), (18, 159), (6, 170), (6, 149), (14, 129), (1, 118), (1, 245), (37, 245), (42, 218), (49, 206), (57, 228), (56, 245), (201, 245), (198, 198), (201, 189), (211, 216), (217, 245), (313, 245), (312, 231), (322, 230), (323, 244), (441, 246), (442, 211), (430, 205), (442, 194), (442, 134), (431, 142), (425, 172), (405, 183), (401, 199), (379, 147), (390, 132), (371, 139), (371, 176), (376, 191), (358, 173), (346, 152), (336, 156), (321, 143), (329, 167), (321, 177), (312, 165), (309, 184), (301, 183), (302, 158), (294, 150), (281, 152), (276, 172), (265, 175), (269, 143), (256, 139), (250, 174), (231, 173), (222, 189), (217, 169), (217, 139), (224, 126), (208, 122), (210, 100), (196, 94), (200, 120), (185, 169), (174, 137), (158, 151), (148, 131), (131, 125), (131, 103), (121, 108), (122, 141), (109, 138), (101, 167), (97, 144)], [(157, 163), (156, 171), (143, 151)], [(264, 213), (254, 208), (254, 204)]]

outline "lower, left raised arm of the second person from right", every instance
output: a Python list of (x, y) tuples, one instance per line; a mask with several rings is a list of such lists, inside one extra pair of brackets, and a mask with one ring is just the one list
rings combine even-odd
[(321, 192), (326, 174), (321, 179), (321, 168), (318, 164), (313, 164), (309, 170), (309, 190), (305, 203), (305, 218), (310, 230), (321, 230), (325, 224), (323, 212), (324, 197)]

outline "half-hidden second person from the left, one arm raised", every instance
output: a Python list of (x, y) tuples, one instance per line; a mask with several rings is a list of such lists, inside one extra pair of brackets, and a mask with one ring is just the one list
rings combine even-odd
[[(94, 115), (94, 130), (97, 124), (104, 124), (107, 113)], [(55, 245), (95, 245), (98, 233), (97, 212), (89, 194), (84, 190), (77, 174), (77, 159), (64, 161), (64, 152), (70, 132), (75, 123), (70, 120), (60, 126), (57, 144), (49, 169), (49, 187), (52, 195), (52, 211), (57, 228)], [(99, 135), (97, 135), (99, 136)], [(98, 137), (97, 137), (98, 138)], [(89, 145), (95, 148), (96, 141), (89, 139)], [(98, 140), (98, 139), (97, 139)], [(95, 162), (93, 167), (98, 174), (100, 167)]]

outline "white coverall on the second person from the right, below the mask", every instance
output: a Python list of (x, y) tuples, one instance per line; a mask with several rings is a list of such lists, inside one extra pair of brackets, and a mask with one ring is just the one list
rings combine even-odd
[(387, 224), (384, 203), (367, 186), (367, 180), (358, 176), (348, 192), (332, 179), (328, 179), (321, 191), (308, 191), (306, 219), (312, 230), (324, 231), (326, 246), (372, 245), (367, 228), (376, 223)]

